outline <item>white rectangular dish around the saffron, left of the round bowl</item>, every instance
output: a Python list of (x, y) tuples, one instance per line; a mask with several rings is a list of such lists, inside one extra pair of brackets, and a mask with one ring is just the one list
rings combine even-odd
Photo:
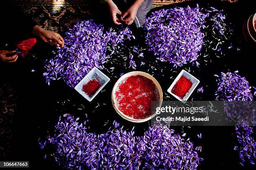
[[(83, 90), (82, 87), (83, 85), (85, 85), (87, 82), (89, 82), (90, 80), (95, 79), (95, 74), (100, 78), (100, 81), (102, 81), (102, 85), (100, 86), (100, 88), (97, 90), (97, 92), (95, 92), (94, 95), (89, 96), (87, 95)], [(88, 74), (76, 85), (76, 87), (74, 87), (75, 90), (77, 90), (77, 92), (80, 93), (80, 95), (82, 95), (84, 98), (86, 98), (89, 102), (92, 101), (92, 99), (94, 99), (94, 97), (100, 92), (100, 90), (103, 89), (103, 87), (110, 81), (110, 78), (108, 78), (103, 72), (101, 72), (99, 69), (97, 69), (96, 67), (93, 67), (92, 70), (90, 72), (88, 72)]]

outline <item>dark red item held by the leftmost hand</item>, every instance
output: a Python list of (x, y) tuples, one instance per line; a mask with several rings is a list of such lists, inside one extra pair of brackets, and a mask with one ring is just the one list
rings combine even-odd
[(28, 55), (28, 51), (36, 44), (36, 38), (30, 38), (17, 43), (17, 48), (20, 51), (21, 57), (25, 58)]

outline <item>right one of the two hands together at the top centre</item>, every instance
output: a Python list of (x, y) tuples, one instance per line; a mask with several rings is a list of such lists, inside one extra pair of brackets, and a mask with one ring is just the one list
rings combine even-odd
[(144, 2), (144, 0), (135, 0), (133, 5), (128, 8), (128, 10), (121, 15), (121, 20), (123, 23), (127, 25), (131, 25), (136, 18), (137, 12), (141, 4)]

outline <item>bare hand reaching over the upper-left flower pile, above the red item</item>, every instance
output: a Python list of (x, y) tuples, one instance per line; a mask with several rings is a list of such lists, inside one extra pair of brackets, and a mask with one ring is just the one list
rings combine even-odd
[(52, 32), (49, 30), (45, 30), (41, 28), (39, 25), (36, 25), (33, 28), (32, 33), (38, 37), (40, 37), (44, 42), (47, 42), (53, 46), (63, 47), (64, 46), (64, 39), (56, 32)]

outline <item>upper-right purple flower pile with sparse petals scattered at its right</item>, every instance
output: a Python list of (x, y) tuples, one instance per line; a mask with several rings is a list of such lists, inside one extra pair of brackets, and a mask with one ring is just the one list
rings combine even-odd
[[(220, 50), (225, 47), (224, 40), (232, 34), (225, 18), (222, 10), (214, 7), (200, 9), (198, 5), (155, 11), (146, 18), (146, 42), (149, 50), (162, 62), (173, 63), (174, 67), (189, 62), (198, 66), (197, 57), (207, 57), (207, 50), (217, 57), (222, 55)], [(206, 50), (200, 53), (202, 47)]]

